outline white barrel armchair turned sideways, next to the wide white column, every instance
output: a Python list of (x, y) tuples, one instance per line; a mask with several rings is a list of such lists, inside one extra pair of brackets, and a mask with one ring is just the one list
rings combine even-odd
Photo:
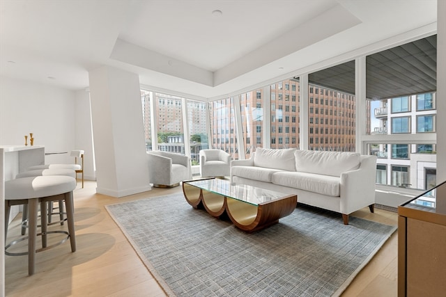
[(178, 186), (183, 180), (192, 179), (190, 157), (172, 152), (147, 152), (148, 170), (155, 187)]

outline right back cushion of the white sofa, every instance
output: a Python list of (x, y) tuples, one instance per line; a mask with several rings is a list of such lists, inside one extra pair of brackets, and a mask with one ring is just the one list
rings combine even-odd
[(294, 156), (299, 172), (340, 177), (342, 172), (360, 168), (359, 153), (296, 150)]

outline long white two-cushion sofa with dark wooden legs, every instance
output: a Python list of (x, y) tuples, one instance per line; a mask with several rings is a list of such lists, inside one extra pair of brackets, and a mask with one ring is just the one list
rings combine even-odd
[(342, 214), (374, 212), (376, 156), (351, 152), (256, 148), (251, 158), (231, 161), (231, 183), (286, 194), (298, 202)]

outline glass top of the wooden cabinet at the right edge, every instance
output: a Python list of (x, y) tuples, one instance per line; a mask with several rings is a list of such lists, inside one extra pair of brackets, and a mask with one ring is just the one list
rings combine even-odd
[(446, 182), (431, 188), (401, 206), (436, 214), (446, 214)]

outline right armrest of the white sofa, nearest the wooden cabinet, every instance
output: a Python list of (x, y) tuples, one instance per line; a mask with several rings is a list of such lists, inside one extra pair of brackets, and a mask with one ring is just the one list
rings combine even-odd
[(341, 214), (375, 203), (376, 156), (361, 156), (357, 170), (341, 174)]

